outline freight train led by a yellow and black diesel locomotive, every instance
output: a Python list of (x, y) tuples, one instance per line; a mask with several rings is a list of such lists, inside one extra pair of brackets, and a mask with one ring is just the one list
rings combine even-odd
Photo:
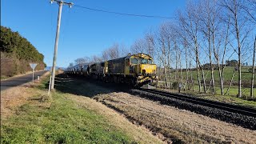
[(76, 65), (67, 68), (68, 74), (100, 79), (104, 82), (127, 83), (131, 86), (158, 84), (157, 66), (147, 54), (128, 54), (105, 62)]

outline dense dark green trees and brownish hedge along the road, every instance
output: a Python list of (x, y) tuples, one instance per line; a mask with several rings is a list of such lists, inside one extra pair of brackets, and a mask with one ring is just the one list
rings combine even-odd
[(1, 76), (12, 76), (30, 70), (30, 62), (38, 63), (37, 70), (43, 70), (46, 64), (44, 55), (18, 32), (1, 26)]

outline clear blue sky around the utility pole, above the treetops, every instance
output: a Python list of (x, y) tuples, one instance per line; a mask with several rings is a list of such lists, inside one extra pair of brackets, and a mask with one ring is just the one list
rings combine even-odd
[[(164, 18), (141, 18), (86, 10), (78, 6), (127, 14), (173, 17), (185, 8), (185, 0), (66, 0), (74, 6), (62, 7), (57, 66), (66, 67), (76, 58), (100, 56), (103, 50), (120, 43), (130, 47), (146, 30), (168, 21)], [(58, 18), (58, 4), (49, 0), (2, 0), (1, 26), (18, 31), (44, 54), (52, 66)]]

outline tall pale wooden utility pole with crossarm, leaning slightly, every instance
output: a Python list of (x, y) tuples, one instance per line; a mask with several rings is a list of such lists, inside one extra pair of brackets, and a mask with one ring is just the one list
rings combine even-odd
[(64, 2), (64, 1), (58, 1), (58, 0), (50, 0), (50, 3), (56, 2), (58, 3), (58, 22), (57, 22), (57, 31), (56, 31), (56, 38), (55, 38), (55, 46), (54, 46), (54, 61), (53, 61), (53, 67), (51, 72), (51, 85), (50, 89), (54, 89), (54, 79), (55, 79), (55, 67), (56, 67), (56, 59), (57, 59), (57, 52), (58, 52), (58, 36), (59, 36), (59, 29), (61, 26), (61, 18), (62, 18), (62, 6), (63, 4), (66, 4), (68, 6), (73, 6), (74, 3), (72, 2)]

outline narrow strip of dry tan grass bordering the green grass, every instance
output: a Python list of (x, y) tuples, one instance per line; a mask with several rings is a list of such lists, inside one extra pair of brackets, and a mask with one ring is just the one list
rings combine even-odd
[(73, 100), (78, 106), (82, 106), (87, 110), (94, 110), (98, 114), (104, 115), (114, 126), (117, 126), (120, 130), (124, 130), (126, 134), (129, 134), (137, 142), (162, 143), (160, 139), (150, 133), (150, 130), (143, 126), (133, 125), (122, 114), (118, 114), (115, 110), (106, 107), (100, 102), (96, 102), (94, 99), (73, 94), (66, 95), (66, 98)]

